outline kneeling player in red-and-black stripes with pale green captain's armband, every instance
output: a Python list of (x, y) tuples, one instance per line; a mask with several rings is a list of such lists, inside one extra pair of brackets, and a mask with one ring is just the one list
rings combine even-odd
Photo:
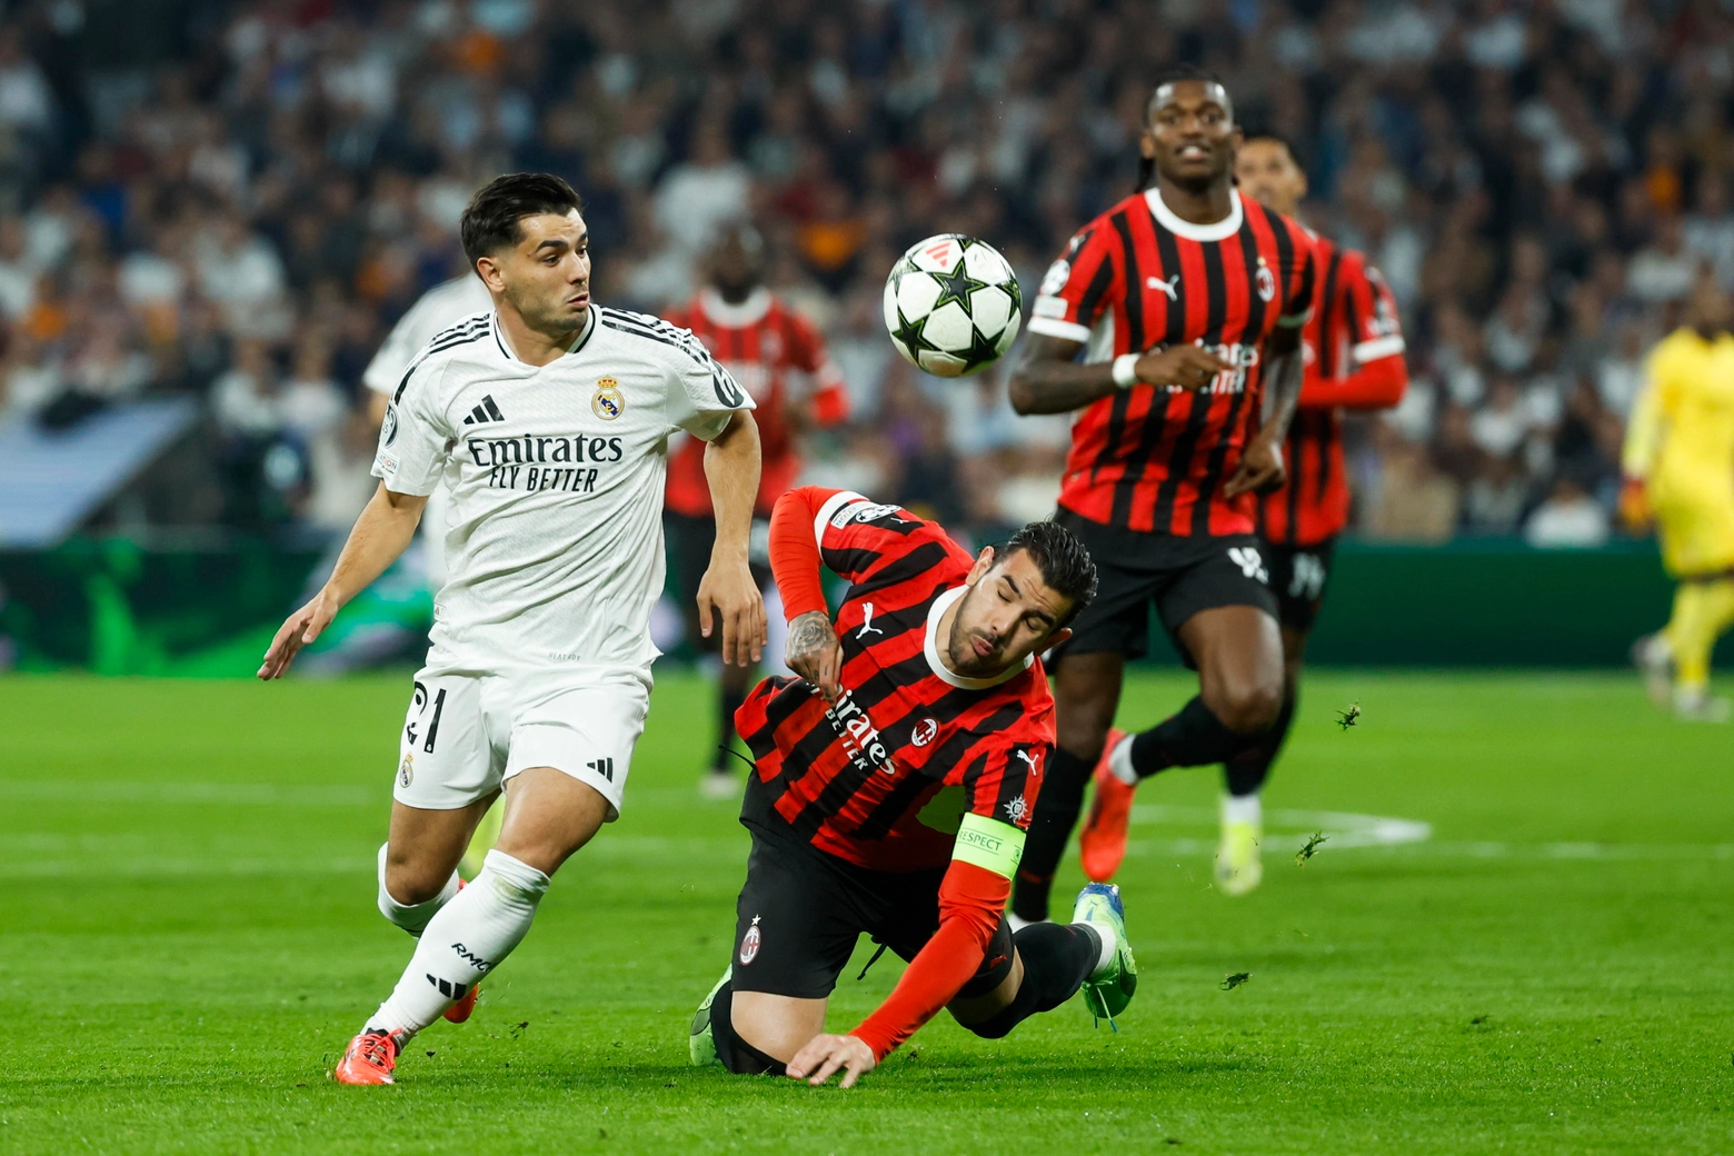
[[(848, 490), (777, 503), (772, 565), (789, 666), (737, 723), (756, 759), (735, 957), (692, 1029), (692, 1061), (843, 1085), (948, 1007), (987, 1038), (1082, 986), (1099, 1016), (1138, 984), (1118, 891), (1092, 884), (1073, 922), (1011, 934), (1011, 873), (1053, 744), (1035, 653), (1068, 634), (1096, 568), (1035, 522), (971, 558), (942, 527)], [(820, 565), (850, 581), (832, 626)], [(862, 932), (909, 960), (848, 1035), (825, 1003)]]

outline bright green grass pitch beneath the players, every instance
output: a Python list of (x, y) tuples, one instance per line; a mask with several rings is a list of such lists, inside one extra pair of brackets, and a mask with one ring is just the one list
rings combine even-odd
[[(1122, 718), (1186, 693), (1139, 678)], [(1313, 676), (1259, 893), (1209, 886), (1214, 771), (1143, 787), (1118, 1035), (1080, 1000), (1001, 1042), (935, 1023), (851, 1092), (685, 1066), (746, 842), (694, 790), (709, 712), (680, 674), (626, 816), (475, 1017), (395, 1088), (329, 1083), (409, 951), (373, 906), (406, 697), (0, 681), (0, 1151), (1734, 1149), (1734, 730), (1628, 678)], [(1379, 839), (1410, 842), (1354, 846)], [(896, 974), (851, 971), (832, 1024)]]

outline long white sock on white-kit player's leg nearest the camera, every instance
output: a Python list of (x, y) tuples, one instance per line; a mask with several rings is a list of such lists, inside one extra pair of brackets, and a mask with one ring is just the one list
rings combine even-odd
[(439, 1019), (524, 941), (544, 894), (546, 875), (489, 851), (482, 872), (428, 922), (404, 977), (368, 1026), (402, 1043)]

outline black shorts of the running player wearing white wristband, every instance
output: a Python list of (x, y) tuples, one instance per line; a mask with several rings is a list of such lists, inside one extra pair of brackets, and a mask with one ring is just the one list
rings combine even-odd
[(1068, 653), (1143, 659), (1150, 652), (1150, 603), (1181, 660), (1195, 669), (1179, 638), (1186, 619), (1217, 607), (1255, 607), (1276, 617), (1271, 575), (1254, 534), (1143, 534), (1101, 525), (1070, 510), (1056, 513), (1054, 522), (1084, 539), (1098, 575), (1096, 601), (1072, 624), (1072, 638), (1056, 648), (1056, 659)]

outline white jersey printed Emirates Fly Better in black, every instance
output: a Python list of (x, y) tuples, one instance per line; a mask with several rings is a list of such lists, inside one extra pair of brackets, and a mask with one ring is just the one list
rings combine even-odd
[(645, 314), (591, 307), (539, 367), (492, 312), (434, 338), (373, 463), (394, 492), (451, 490), (428, 666), (647, 672), (669, 437), (711, 440), (737, 409), (753, 399), (692, 331)]

